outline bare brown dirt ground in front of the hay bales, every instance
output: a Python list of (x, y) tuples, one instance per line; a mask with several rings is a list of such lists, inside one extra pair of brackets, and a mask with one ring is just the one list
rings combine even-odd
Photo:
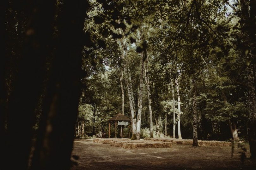
[[(246, 156), (250, 156), (246, 145)], [(174, 144), (172, 148), (123, 149), (92, 140), (75, 140), (72, 155), (78, 156), (79, 169), (256, 169), (256, 161), (240, 161), (235, 145), (231, 147), (192, 147)]]

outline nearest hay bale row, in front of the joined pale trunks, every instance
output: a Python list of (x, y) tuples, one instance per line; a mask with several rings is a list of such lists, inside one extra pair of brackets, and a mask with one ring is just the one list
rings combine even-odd
[(142, 149), (142, 148), (170, 148), (172, 142), (144, 142), (144, 143), (124, 143), (125, 149)]

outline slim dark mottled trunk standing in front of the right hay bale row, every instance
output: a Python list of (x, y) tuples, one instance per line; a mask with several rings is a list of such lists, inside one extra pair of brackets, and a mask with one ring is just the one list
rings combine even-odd
[(193, 144), (192, 146), (198, 146), (197, 142), (197, 103), (196, 103), (196, 89), (194, 88), (193, 94)]

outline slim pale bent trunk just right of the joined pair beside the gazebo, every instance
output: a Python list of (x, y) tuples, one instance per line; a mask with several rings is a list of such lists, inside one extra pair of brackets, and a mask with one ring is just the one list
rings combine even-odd
[(145, 84), (147, 86), (147, 92), (148, 92), (148, 102), (149, 102), (149, 125), (150, 125), (150, 138), (153, 138), (153, 118), (152, 118), (152, 108), (151, 108), (151, 93), (150, 93), (150, 85), (149, 85), (149, 75), (148, 73), (148, 59), (145, 60), (146, 65), (145, 72), (144, 72), (144, 78), (145, 78)]

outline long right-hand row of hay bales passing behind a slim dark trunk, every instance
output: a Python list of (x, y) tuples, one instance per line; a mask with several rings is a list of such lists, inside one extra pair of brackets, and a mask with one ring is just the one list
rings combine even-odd
[[(175, 138), (144, 138), (144, 140), (172, 142), (174, 144), (192, 145), (193, 139), (175, 139)], [(216, 140), (198, 140), (199, 146), (231, 146), (231, 142)]]

